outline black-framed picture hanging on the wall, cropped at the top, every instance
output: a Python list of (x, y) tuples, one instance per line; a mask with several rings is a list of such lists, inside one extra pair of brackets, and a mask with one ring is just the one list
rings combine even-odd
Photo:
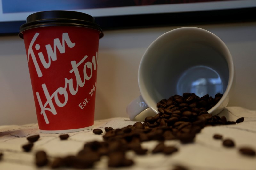
[(48, 10), (87, 13), (103, 30), (256, 21), (256, 0), (0, 0), (0, 34)]

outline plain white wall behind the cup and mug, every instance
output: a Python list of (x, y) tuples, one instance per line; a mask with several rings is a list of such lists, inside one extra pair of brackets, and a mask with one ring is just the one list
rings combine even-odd
[[(256, 22), (194, 25), (222, 39), (235, 65), (229, 106), (256, 110)], [(100, 39), (95, 118), (127, 117), (126, 106), (140, 95), (140, 59), (161, 34), (177, 27), (105, 31)], [(37, 122), (23, 40), (0, 37), (0, 125)]]

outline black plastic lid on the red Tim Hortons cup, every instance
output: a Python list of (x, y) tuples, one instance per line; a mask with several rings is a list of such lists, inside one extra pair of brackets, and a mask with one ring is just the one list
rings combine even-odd
[(23, 38), (23, 31), (44, 26), (79, 26), (92, 28), (100, 31), (100, 38), (103, 37), (102, 29), (95, 23), (91, 15), (76, 11), (42, 11), (31, 14), (27, 17), (26, 23), (20, 26), (19, 36)]

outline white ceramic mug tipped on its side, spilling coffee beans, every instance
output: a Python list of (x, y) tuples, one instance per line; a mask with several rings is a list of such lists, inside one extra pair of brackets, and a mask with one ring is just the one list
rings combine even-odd
[(138, 70), (140, 94), (126, 108), (131, 120), (143, 121), (156, 115), (162, 99), (184, 92), (201, 97), (222, 93), (208, 110), (218, 114), (228, 104), (234, 79), (232, 56), (215, 34), (196, 27), (182, 27), (164, 33), (145, 51)]

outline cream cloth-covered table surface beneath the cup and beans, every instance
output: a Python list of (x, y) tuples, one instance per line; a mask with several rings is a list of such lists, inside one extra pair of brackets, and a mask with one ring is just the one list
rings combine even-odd
[[(256, 150), (256, 111), (241, 107), (227, 107), (218, 115), (224, 115), (230, 121), (244, 117), (244, 122), (205, 127), (196, 135), (195, 141), (189, 144), (182, 144), (177, 140), (165, 141), (166, 145), (178, 148), (178, 152), (172, 155), (152, 154), (150, 151), (159, 142), (143, 142), (142, 147), (148, 149), (149, 153), (140, 156), (132, 151), (127, 152), (127, 158), (132, 159), (134, 165), (113, 169), (171, 170), (175, 165), (182, 165), (189, 170), (256, 170), (256, 156), (245, 156), (238, 152), (238, 148), (242, 146)], [(134, 123), (128, 118), (122, 117), (96, 120), (93, 129), (99, 128), (104, 131), (104, 127), (116, 129)], [(39, 150), (44, 150), (51, 158), (76, 155), (86, 142), (103, 141), (102, 135), (94, 134), (93, 129), (68, 133), (70, 137), (67, 140), (60, 140), (60, 134), (40, 133), (37, 124), (0, 126), (0, 152), (3, 153), (0, 169), (37, 169), (35, 153)], [(213, 139), (213, 135), (216, 133), (223, 135), (224, 139), (232, 139), (235, 142), (235, 147), (223, 147), (221, 140)], [(24, 152), (22, 145), (28, 143), (26, 138), (34, 134), (40, 135), (39, 140), (34, 143), (30, 152)], [(107, 158), (100, 159), (94, 164), (93, 169), (108, 169), (107, 161)], [(51, 168), (44, 166), (38, 169)]]

